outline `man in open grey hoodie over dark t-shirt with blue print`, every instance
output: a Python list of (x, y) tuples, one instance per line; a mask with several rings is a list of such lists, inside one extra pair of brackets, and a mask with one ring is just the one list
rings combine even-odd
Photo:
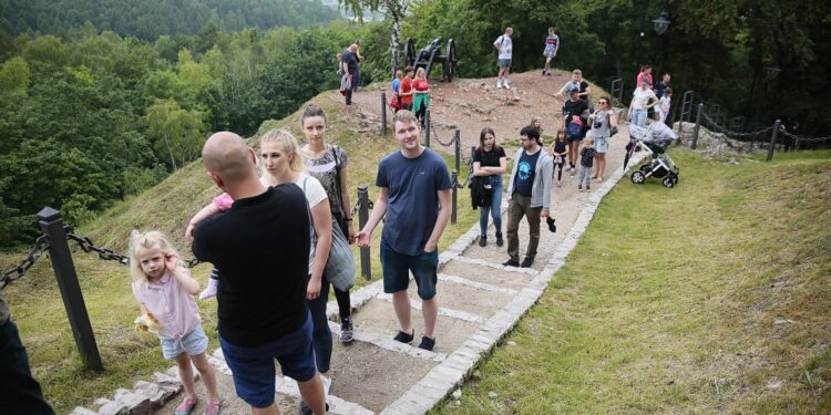
[[(548, 217), (551, 205), (552, 159), (540, 146), (540, 132), (532, 126), (522, 128), (522, 148), (514, 155), (514, 168), (507, 180), (507, 255), (506, 267), (527, 268), (534, 263), (536, 247), (540, 245), (540, 219)], [(520, 220), (529, 221), (529, 248), (520, 263)]]

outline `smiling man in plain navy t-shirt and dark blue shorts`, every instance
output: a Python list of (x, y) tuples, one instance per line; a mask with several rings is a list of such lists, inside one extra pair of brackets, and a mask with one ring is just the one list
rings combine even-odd
[[(368, 248), (372, 230), (387, 219), (381, 234), (383, 292), (392, 294), (398, 322), (396, 340), (412, 342), (416, 330), (410, 318), (407, 288), (412, 272), (421, 299), (424, 335), (419, 347), (435, 346), (435, 321), (439, 301), (435, 282), (439, 267), (439, 238), (450, 218), (450, 173), (444, 159), (421, 145), (421, 128), (410, 111), (399, 111), (392, 121), (401, 148), (378, 166), (376, 186), (380, 194), (367, 225), (358, 232), (358, 246)], [(551, 173), (548, 173), (551, 175)]]

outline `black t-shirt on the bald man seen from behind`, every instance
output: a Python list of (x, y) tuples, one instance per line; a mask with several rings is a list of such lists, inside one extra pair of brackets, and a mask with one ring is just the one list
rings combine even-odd
[(309, 214), (295, 184), (238, 199), (194, 231), (193, 252), (219, 270), (219, 334), (257, 346), (298, 330), (308, 317)]

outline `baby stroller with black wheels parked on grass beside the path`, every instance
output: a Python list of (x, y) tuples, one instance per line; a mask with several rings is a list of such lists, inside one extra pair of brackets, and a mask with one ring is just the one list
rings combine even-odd
[(663, 178), (664, 186), (667, 188), (677, 185), (679, 168), (667, 153), (667, 147), (678, 137), (675, 132), (666, 124), (658, 122), (647, 127), (629, 124), (629, 136), (634, 143), (633, 147), (639, 147), (652, 154), (652, 159), (632, 174), (632, 183), (639, 185), (647, 177), (653, 176)]

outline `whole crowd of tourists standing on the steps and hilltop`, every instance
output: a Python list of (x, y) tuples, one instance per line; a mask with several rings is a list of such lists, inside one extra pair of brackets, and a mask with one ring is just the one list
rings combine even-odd
[[(496, 89), (512, 87), (512, 34), (513, 30), (506, 28), (493, 42), (499, 66)], [(356, 40), (338, 54), (340, 91), (347, 106), (360, 84), (360, 45)], [(554, 28), (548, 29), (543, 46), (543, 76), (548, 76), (560, 50)], [(644, 66), (628, 110), (633, 123), (643, 125), (649, 110), (658, 120), (666, 118), (671, 100), (669, 80), (665, 74), (654, 84), (652, 68)], [(201, 326), (196, 295), (217, 300), (219, 344), (236, 393), (254, 414), (278, 413), (275, 359), (283, 374), (297, 381), (300, 412), (326, 413), (334, 343), (326, 312), (329, 292), (338, 304), (339, 341), (350, 343), (355, 339), (349, 293), (355, 284), (355, 259), (349, 245), (369, 248), (381, 220), (383, 230), (376, 240), (383, 291), (392, 295), (399, 324), (393, 339), (412, 343), (418, 338), (408, 294), (412, 274), (424, 321), (418, 347), (434, 350), (438, 242), (451, 215), (453, 184), (442, 157), (421, 144), (430, 105), (424, 69), (408, 66), (397, 72), (392, 92), (392, 126), (399, 148), (379, 160), (378, 198), (362, 229), (356, 229), (350, 208), (349, 155), (327, 141), (327, 116), (320, 106), (311, 104), (300, 117), (304, 145), (286, 129), (263, 134), (256, 151), (229, 132), (216, 133), (205, 143), (202, 163), (223, 193), (195, 212), (185, 230), (185, 237), (193, 241), (194, 256), (213, 264), (205, 290), (199, 291), (199, 283), (165, 235), (153, 230), (131, 234), (132, 291), (141, 310), (136, 324), (158, 336), (162, 354), (178, 367), (185, 396), (176, 415), (191, 414), (197, 405), (194, 367), (207, 393), (204, 414), (216, 415), (223, 405), (216, 374), (206, 357), (208, 339)], [(488, 245), (492, 220), (495, 245), (502, 247), (507, 241), (506, 267), (533, 266), (543, 219), (550, 230), (555, 230), (552, 185), (562, 186), (564, 170), (577, 175), (579, 191), (588, 191), (593, 181), (605, 177), (608, 139), (618, 124), (611, 98), (599, 97), (595, 108), (592, 90), (579, 70), (573, 71), (557, 95), (563, 106), (554, 139), (544, 145), (540, 118), (523, 127), (506, 183), (506, 153), (493, 128), (482, 128), (473, 154), (471, 199), (480, 209), (479, 245)], [(505, 186), (509, 205), (503, 236)], [(529, 224), (530, 240), (521, 256), (519, 227), (523, 218)], [(4, 323), (8, 312), (3, 310), (0, 297), (0, 328), (9, 332), (3, 342), (17, 339), (10, 347), (22, 350), (16, 328), (10, 321)], [(19, 395), (20, 402), (31, 404), (31, 413), (51, 413), (28, 371), (27, 364), (10, 372), (21, 380), (21, 386), (29, 385), (25, 390), (31, 392), (31, 400)]]

